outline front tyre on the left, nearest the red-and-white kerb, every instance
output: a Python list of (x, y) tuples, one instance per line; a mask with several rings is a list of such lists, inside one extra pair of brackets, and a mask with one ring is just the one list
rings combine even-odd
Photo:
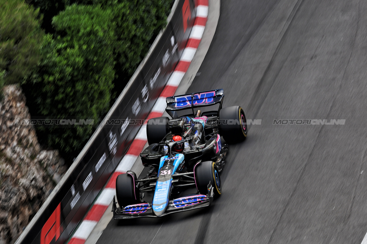
[(136, 184), (136, 175), (132, 171), (119, 174), (116, 179), (116, 198), (121, 208), (135, 204), (140, 200), (139, 189)]

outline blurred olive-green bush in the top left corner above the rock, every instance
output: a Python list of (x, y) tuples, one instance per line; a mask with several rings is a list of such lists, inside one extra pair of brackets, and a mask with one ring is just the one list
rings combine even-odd
[(40, 60), (39, 10), (22, 0), (0, 1), (0, 70), (6, 85), (21, 82)]

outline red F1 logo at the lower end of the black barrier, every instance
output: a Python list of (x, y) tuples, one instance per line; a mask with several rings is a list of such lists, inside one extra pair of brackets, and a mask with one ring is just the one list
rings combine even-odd
[(55, 241), (60, 237), (60, 215), (61, 215), (61, 203), (56, 207), (55, 211), (47, 219), (46, 223), (41, 230), (41, 242), (40, 244), (50, 244), (52, 239), (56, 237)]

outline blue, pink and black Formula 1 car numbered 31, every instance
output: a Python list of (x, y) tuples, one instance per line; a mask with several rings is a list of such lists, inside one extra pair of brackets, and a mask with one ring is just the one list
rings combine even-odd
[[(114, 219), (161, 217), (207, 207), (221, 194), (219, 172), (227, 143), (241, 142), (247, 136), (243, 109), (222, 108), (223, 98), (223, 89), (166, 98), (166, 112), (172, 119), (150, 119), (146, 126), (149, 146), (140, 157), (150, 167), (148, 174), (138, 180), (128, 171), (116, 179), (119, 207), (114, 196)], [(213, 106), (218, 108), (213, 110)], [(203, 112), (195, 113), (198, 107)], [(190, 187), (195, 189), (193, 194), (180, 197)], [(154, 192), (151, 203), (141, 200), (148, 192)]]

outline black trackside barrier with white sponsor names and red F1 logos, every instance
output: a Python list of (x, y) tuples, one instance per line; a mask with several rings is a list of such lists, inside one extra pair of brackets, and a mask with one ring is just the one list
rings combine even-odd
[(68, 239), (141, 127), (132, 121), (146, 119), (166, 85), (188, 40), (195, 4), (196, 0), (175, 1), (167, 27), (17, 244)]

